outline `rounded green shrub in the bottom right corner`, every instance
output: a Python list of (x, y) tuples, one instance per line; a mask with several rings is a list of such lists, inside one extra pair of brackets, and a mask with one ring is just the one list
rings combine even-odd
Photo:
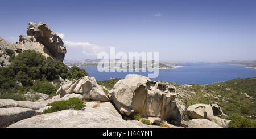
[(231, 120), (229, 122), (229, 128), (254, 128), (254, 122), (250, 119), (242, 117), (238, 114), (232, 114), (226, 117)]

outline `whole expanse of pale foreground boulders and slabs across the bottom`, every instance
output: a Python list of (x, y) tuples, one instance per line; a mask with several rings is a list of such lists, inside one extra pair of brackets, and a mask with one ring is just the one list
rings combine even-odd
[[(94, 77), (65, 82), (56, 96), (36, 102), (0, 99), (0, 127), (228, 127), (218, 105), (197, 104), (185, 110), (175, 86), (141, 75), (127, 75), (112, 90), (98, 85)], [(42, 114), (48, 103), (69, 98), (86, 102), (82, 110)], [(127, 120), (133, 112), (153, 125)], [(184, 113), (190, 119), (184, 120)]]

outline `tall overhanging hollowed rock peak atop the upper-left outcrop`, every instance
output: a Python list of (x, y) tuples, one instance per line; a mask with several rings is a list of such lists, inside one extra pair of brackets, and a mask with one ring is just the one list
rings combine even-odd
[(49, 29), (45, 23), (28, 23), (27, 36), (20, 35), (16, 48), (20, 50), (37, 50), (46, 57), (64, 60), (66, 47), (62, 39)]

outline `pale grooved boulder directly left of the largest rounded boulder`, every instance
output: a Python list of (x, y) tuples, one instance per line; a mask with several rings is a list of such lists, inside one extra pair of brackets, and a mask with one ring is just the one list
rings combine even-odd
[(82, 94), (85, 99), (94, 101), (109, 101), (108, 95), (104, 92), (102, 87), (97, 84), (94, 77), (82, 77), (82, 79), (61, 86), (56, 92), (56, 94), (60, 94), (60, 96), (72, 93)]

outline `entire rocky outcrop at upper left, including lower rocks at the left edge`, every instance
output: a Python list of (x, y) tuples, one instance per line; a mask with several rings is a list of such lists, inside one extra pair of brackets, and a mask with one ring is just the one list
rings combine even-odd
[(6, 55), (5, 50), (11, 49), (15, 55), (22, 53), (24, 50), (36, 50), (42, 53), (45, 57), (52, 57), (54, 60), (63, 61), (66, 47), (62, 39), (49, 29), (44, 23), (28, 23), (27, 37), (19, 35), (19, 42), (7, 42), (0, 37), (0, 66), (8, 67), (10, 63), (9, 55)]

